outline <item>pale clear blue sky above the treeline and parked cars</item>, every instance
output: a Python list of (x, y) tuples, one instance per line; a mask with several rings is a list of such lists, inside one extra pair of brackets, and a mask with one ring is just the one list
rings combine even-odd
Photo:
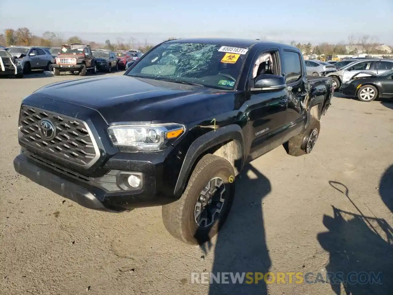
[(0, 0), (0, 31), (27, 27), (64, 38), (158, 43), (169, 37), (235, 37), (346, 42), (370, 35), (393, 45), (393, 0)]

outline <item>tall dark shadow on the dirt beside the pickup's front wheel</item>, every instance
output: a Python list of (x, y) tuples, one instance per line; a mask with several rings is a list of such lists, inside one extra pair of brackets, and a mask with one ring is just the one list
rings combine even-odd
[[(248, 172), (255, 176), (247, 176)], [(251, 164), (242, 170), (236, 179), (236, 194), (225, 226), (217, 234), (212, 273), (268, 272), (271, 261), (266, 247), (262, 200), (270, 192), (269, 180)], [(208, 252), (209, 242), (201, 245)], [(208, 255), (208, 253), (207, 253)], [(209, 270), (206, 270), (209, 271)], [(225, 294), (267, 294), (263, 278), (258, 284), (244, 277), (243, 284), (233, 284), (230, 274), (229, 284), (219, 284), (213, 280), (209, 295)], [(248, 282), (248, 283), (247, 283)], [(250, 284), (252, 282), (252, 284)]]

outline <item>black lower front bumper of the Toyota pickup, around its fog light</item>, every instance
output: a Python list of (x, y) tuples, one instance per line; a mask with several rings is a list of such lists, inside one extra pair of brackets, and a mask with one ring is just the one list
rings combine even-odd
[(172, 197), (156, 194), (157, 172), (154, 165), (149, 162), (135, 162), (138, 163), (134, 163), (133, 166), (145, 175), (143, 188), (138, 191), (108, 191), (102, 187), (104, 182), (99, 183), (94, 178), (83, 179), (71, 175), (55, 166), (40, 162), (28, 153), (21, 153), (14, 159), (14, 168), (17, 173), (28, 177), (33, 182), (90, 209), (121, 212), (173, 202)]

